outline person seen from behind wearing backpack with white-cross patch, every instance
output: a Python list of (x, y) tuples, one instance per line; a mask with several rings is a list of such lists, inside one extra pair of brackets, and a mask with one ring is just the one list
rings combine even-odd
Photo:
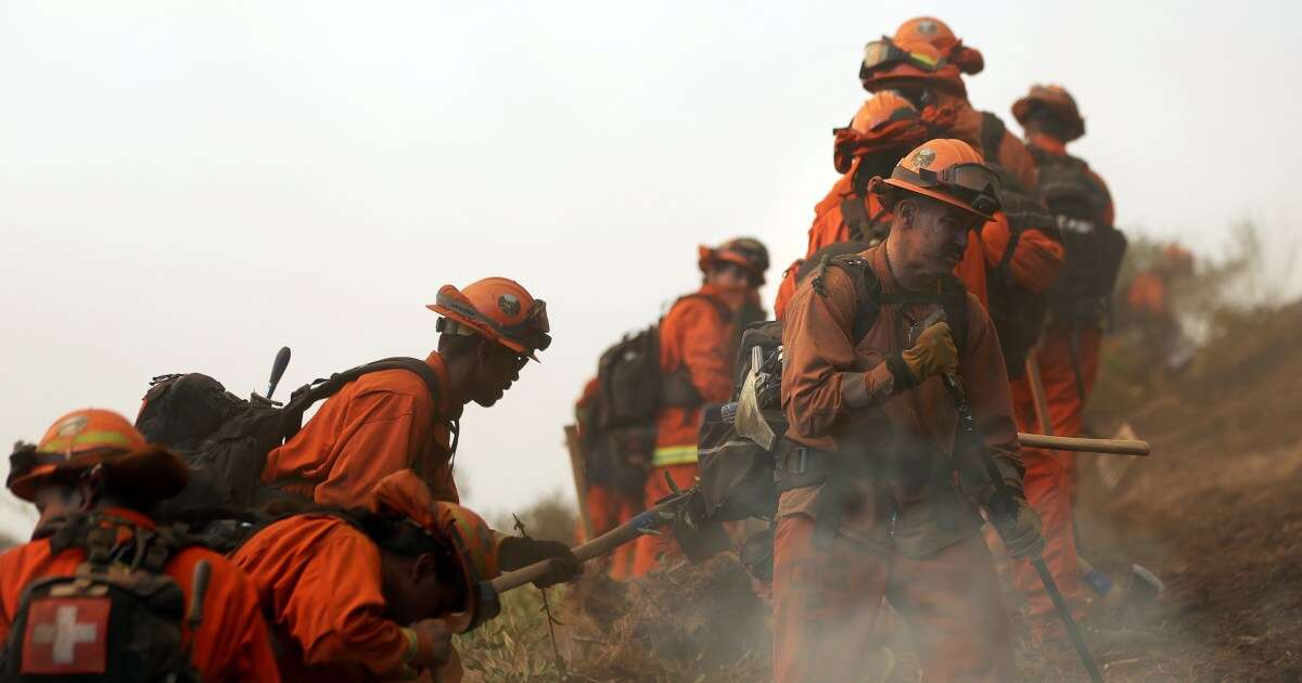
[(0, 680), (279, 680), (249, 580), (150, 518), (187, 480), (107, 410), (20, 444), (8, 487), (40, 522), (0, 554)]

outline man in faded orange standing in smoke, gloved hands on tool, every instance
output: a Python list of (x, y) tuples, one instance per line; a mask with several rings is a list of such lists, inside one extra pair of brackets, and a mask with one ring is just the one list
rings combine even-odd
[[(923, 680), (1014, 678), (979, 533), (995, 487), (980, 462), (965, 462), (978, 455), (952, 453), (956, 408), (941, 379), (961, 376), (996, 468), (1021, 492), (999, 338), (950, 275), (969, 232), (999, 208), (995, 182), (967, 143), (922, 144), (872, 182), (893, 211), (887, 241), (832, 259), (786, 310), (783, 407), (801, 448), (777, 472), (779, 682), (859, 680), (883, 596), (909, 623)], [(1025, 496), (1001, 531), (1017, 556), (1044, 542)]]

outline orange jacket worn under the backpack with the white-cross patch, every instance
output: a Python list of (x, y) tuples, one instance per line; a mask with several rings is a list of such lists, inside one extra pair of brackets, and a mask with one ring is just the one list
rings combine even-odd
[[(155, 527), (150, 518), (132, 510), (111, 507), (105, 513), (142, 528)], [(181, 623), (181, 635), (193, 647), (190, 661), (194, 667), (203, 680), (280, 680), (258, 597), (253, 584), (234, 565), (211, 550), (191, 546), (173, 556), (164, 572), (181, 587), (189, 605), (194, 566), (201, 559), (208, 561), (212, 567), (208, 592), (203, 597), (203, 621), (198, 634), (191, 634), (189, 626)], [(22, 589), (27, 584), (46, 576), (69, 576), (85, 561), (86, 553), (79, 548), (52, 556), (49, 539), (22, 544), (0, 554), (0, 643), (9, 637)]]

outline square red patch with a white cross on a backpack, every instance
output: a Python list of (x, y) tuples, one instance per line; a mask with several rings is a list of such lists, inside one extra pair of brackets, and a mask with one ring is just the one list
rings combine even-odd
[(108, 597), (40, 597), (27, 606), (23, 674), (103, 674)]

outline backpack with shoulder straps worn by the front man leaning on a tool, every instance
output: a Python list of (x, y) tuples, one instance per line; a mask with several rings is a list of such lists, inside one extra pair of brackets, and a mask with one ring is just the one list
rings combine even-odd
[[(872, 272), (867, 259), (858, 254), (844, 254), (844, 248), (845, 246), (838, 242), (815, 252), (810, 261), (816, 265), (806, 275), (818, 278), (814, 282), (815, 290), (822, 286), (820, 280), (829, 267), (841, 268), (855, 282), (855, 289), (859, 291), (859, 314), (855, 315), (852, 337), (857, 345), (876, 324), (883, 303), (906, 303), (915, 295), (884, 294), (881, 282)], [(967, 293), (957, 280), (950, 280), (947, 289), (943, 304), (952, 334), (956, 340), (965, 340), (967, 336)], [(923, 297), (935, 298), (934, 295)], [(960, 349), (963, 346), (961, 341), (958, 346)], [(712, 406), (704, 412), (698, 441), (700, 458), (698, 477), (704, 515), (710, 522), (736, 522), (750, 516), (772, 519), (783, 490), (818, 483), (779, 481), (776, 476), (777, 462), (796, 449), (794, 442), (781, 438), (786, 433), (788, 425), (781, 408), (781, 398), (776, 392), (760, 392), (772, 395), (772, 398), (759, 406), (764, 422), (780, 437), (772, 451), (741, 437), (733, 427), (730, 411), (736, 410), (741, 384), (751, 371), (751, 349), (754, 347), (759, 347), (760, 358), (764, 359), (762, 372), (767, 373), (768, 381), (781, 382), (783, 324), (767, 320), (746, 328), (734, 363), (737, 381), (734, 382), (733, 403)]]

